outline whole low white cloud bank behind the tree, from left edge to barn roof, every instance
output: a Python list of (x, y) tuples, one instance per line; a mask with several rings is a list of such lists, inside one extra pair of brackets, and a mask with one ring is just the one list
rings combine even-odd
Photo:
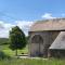
[(27, 22), (27, 21), (15, 21), (15, 24), (12, 23), (4, 23), (3, 21), (0, 21), (0, 38), (9, 37), (9, 30), (13, 26), (18, 26), (23, 29), (25, 35), (28, 35), (29, 27), (34, 24), (34, 22)]

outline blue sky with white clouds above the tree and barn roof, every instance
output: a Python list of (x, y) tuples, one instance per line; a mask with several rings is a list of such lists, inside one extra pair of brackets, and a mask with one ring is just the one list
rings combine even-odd
[(0, 38), (16, 25), (27, 36), (36, 21), (56, 17), (65, 17), (65, 0), (0, 0)]

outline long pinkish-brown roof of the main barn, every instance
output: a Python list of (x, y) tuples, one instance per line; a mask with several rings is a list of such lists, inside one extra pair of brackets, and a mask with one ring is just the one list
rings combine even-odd
[(36, 22), (29, 31), (65, 30), (65, 18), (53, 18)]

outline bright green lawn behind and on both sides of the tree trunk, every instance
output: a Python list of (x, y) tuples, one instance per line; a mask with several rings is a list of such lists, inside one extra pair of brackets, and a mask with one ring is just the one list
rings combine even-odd
[[(6, 55), (10, 56), (14, 56), (15, 55), (15, 51), (12, 51), (11, 49), (9, 49), (9, 44), (3, 44), (0, 46), (0, 50), (3, 51)], [(18, 51), (18, 55), (22, 53), (27, 54), (28, 53), (28, 46), (26, 46), (26, 48), (24, 48), (23, 50), (17, 50)]]

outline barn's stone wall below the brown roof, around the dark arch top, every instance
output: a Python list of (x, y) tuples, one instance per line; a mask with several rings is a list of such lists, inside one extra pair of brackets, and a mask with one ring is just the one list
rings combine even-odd
[[(42, 54), (42, 56), (48, 56), (48, 49), (51, 46), (51, 43), (55, 40), (60, 31), (31, 31), (29, 32), (29, 56), (39, 56), (39, 54)], [(43, 42), (41, 44), (39, 43), (31, 43), (31, 39), (34, 36), (40, 35), (40, 37), (43, 39)], [(40, 49), (39, 49), (40, 46)], [(39, 54), (38, 51), (40, 50)]]

